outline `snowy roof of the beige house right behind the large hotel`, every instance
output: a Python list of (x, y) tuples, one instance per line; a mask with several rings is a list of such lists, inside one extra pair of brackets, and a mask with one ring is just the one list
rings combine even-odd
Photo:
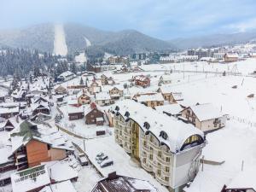
[(200, 121), (222, 117), (223, 114), (212, 103), (194, 105), (190, 107)]

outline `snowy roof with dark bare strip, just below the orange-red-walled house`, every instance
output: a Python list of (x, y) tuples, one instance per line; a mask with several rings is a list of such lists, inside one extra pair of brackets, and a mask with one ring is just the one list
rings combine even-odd
[(24, 192), (50, 183), (46, 166), (34, 166), (11, 175), (13, 192)]

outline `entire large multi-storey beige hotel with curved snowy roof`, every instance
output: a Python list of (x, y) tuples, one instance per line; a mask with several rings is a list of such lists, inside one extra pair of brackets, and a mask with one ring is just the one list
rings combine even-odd
[(132, 100), (117, 102), (110, 113), (115, 142), (159, 183), (174, 192), (193, 181), (206, 145), (202, 131)]

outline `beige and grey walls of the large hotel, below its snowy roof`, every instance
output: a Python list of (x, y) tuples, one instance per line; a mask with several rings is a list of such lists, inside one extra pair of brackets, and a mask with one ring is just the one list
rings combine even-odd
[(161, 141), (163, 138), (145, 131), (135, 120), (125, 119), (121, 114), (113, 116), (115, 142), (139, 160), (143, 169), (151, 172), (159, 183), (170, 191), (181, 191), (184, 184), (195, 177), (200, 166), (202, 145), (188, 147), (202, 138), (191, 136), (184, 141), (184, 150), (173, 152)]

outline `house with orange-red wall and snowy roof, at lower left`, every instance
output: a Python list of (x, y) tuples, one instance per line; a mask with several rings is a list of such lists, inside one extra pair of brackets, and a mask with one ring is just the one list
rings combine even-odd
[(24, 121), (10, 134), (11, 155), (18, 170), (38, 166), (41, 162), (63, 160), (73, 153), (72, 143), (61, 137), (58, 131)]

